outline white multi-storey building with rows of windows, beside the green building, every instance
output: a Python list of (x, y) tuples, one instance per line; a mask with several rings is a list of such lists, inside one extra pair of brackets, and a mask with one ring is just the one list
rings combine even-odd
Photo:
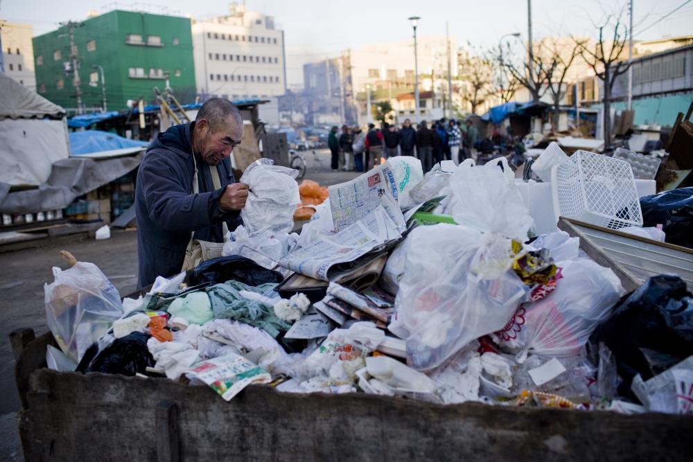
[(229, 15), (194, 21), (195, 81), (203, 99), (268, 99), (260, 115), (278, 123), (277, 96), (286, 92), (283, 30), (274, 17), (231, 3)]

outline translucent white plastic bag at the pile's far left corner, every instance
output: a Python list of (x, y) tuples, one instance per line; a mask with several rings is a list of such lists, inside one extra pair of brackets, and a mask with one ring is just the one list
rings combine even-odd
[(53, 267), (53, 277), (44, 285), (46, 321), (63, 353), (80, 362), (123, 315), (121, 296), (94, 263), (78, 262), (64, 271)]

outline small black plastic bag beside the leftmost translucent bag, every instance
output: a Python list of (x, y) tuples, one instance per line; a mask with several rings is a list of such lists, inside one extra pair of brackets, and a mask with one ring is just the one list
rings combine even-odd
[(132, 332), (130, 335), (115, 339), (94, 358), (85, 372), (123, 375), (145, 373), (148, 366), (155, 364), (147, 348), (149, 337), (151, 335), (146, 332)]

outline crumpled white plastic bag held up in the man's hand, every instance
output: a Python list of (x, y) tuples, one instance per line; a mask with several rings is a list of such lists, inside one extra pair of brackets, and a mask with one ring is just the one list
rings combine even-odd
[(240, 217), (249, 236), (291, 231), (296, 206), (301, 202), (297, 175), (297, 170), (272, 165), (270, 159), (258, 159), (245, 169), (240, 182), (247, 184), (249, 191)]

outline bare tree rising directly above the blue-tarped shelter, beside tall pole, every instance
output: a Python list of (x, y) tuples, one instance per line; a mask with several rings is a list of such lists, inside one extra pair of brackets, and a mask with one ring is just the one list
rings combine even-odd
[[(533, 45), (534, 46), (534, 45)], [(517, 82), (525, 87), (532, 96), (532, 102), (536, 103), (547, 91), (547, 82), (554, 71), (552, 60), (547, 59), (547, 53), (543, 52), (543, 44), (538, 44), (532, 56), (527, 60), (518, 60), (509, 44), (505, 48), (498, 46), (496, 60), (507, 69)]]

